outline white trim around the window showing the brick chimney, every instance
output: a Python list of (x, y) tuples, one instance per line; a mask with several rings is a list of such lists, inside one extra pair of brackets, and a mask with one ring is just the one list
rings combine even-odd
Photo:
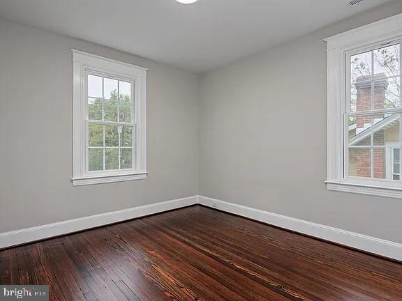
[(348, 54), (402, 38), (402, 14), (326, 38), (327, 42), (327, 189), (402, 199), (402, 182), (344, 178), (343, 114), (346, 111)]

